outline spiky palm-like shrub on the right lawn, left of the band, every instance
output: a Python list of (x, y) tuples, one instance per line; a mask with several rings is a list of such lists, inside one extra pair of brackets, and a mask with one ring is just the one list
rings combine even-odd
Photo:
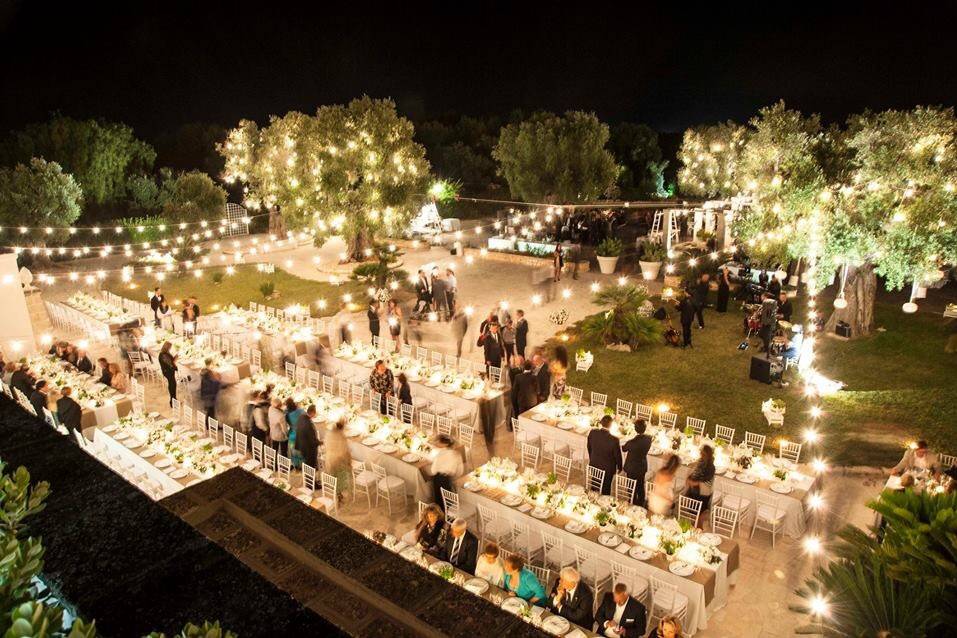
[(639, 312), (647, 300), (644, 286), (627, 284), (599, 290), (592, 302), (608, 310), (586, 317), (581, 324), (582, 336), (604, 344), (627, 344), (632, 349), (655, 341), (661, 337), (661, 323)]

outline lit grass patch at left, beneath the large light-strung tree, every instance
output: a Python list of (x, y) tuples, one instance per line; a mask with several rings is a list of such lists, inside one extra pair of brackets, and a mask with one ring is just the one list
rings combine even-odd
[[(217, 270), (208, 269), (201, 278), (192, 275), (175, 275), (167, 277), (162, 282), (163, 292), (175, 309), (178, 302), (189, 295), (194, 295), (199, 307), (204, 312), (216, 312), (228, 304), (247, 308), (250, 301), (267, 306), (286, 308), (293, 304), (308, 306), (315, 317), (332, 315), (339, 309), (339, 301), (344, 294), (352, 294), (354, 301), (362, 303), (365, 300), (365, 287), (356, 282), (346, 282), (340, 286), (311, 279), (303, 279), (276, 268), (273, 273), (264, 273), (256, 269), (255, 265), (236, 267), (234, 275), (225, 275), (218, 284), (213, 282), (212, 274)], [(259, 291), (259, 286), (266, 281), (272, 281), (276, 286), (279, 297), (266, 300)], [(125, 297), (146, 298), (152, 286), (147, 288), (130, 289), (128, 284), (111, 282), (106, 289)], [(325, 299), (325, 309), (320, 309), (318, 301)]]

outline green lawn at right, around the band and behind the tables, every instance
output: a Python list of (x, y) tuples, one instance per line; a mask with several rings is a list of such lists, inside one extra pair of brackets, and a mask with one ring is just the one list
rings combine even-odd
[[(822, 299), (822, 307), (825, 303), (829, 307)], [(889, 466), (904, 444), (917, 438), (928, 439), (945, 453), (957, 451), (957, 355), (944, 352), (948, 326), (939, 315), (905, 315), (896, 300), (879, 301), (875, 312), (876, 325), (886, 332), (852, 341), (819, 340), (820, 369), (847, 388), (824, 400), (825, 414), (818, 424), (824, 438), (818, 449), (805, 446), (804, 459), (821, 455), (833, 464)], [(795, 316), (803, 316), (800, 307)], [(736, 441), (746, 430), (766, 434), (768, 447), (776, 451), (772, 441), (801, 440), (813, 424), (809, 403), (793, 369), (785, 377), (791, 382), (786, 388), (748, 379), (760, 342), (753, 339), (749, 350), (737, 350), (741, 318), (734, 302), (725, 314), (707, 310), (706, 328), (693, 328), (694, 347), (687, 350), (653, 344), (622, 353), (572, 336), (570, 356), (584, 346), (595, 355), (595, 363), (587, 373), (575, 372), (572, 364), (568, 383), (583, 388), (586, 396), (592, 390), (607, 393), (610, 405), (618, 397), (667, 403), (678, 413), (680, 425), (686, 416), (707, 419), (709, 431), (715, 424), (737, 428)], [(676, 317), (673, 322), (677, 327)], [(783, 428), (769, 428), (761, 413), (761, 403), (770, 397), (787, 405)]]

